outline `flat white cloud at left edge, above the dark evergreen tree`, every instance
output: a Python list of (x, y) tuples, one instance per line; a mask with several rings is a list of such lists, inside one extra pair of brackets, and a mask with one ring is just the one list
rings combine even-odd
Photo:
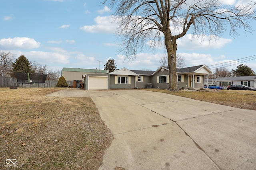
[(35, 49), (40, 47), (39, 42), (27, 37), (3, 38), (0, 39), (0, 45), (5, 49)]

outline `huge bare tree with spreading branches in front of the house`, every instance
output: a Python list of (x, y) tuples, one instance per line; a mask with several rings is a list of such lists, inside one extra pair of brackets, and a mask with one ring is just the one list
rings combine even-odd
[(114, 16), (118, 20), (117, 34), (124, 42), (120, 52), (126, 59), (135, 59), (138, 50), (151, 42), (150, 47), (158, 47), (164, 39), (168, 56), (169, 90), (176, 86), (177, 39), (186, 35), (191, 27), (192, 35), (218, 38), (226, 26), (230, 35), (238, 35), (237, 29), (252, 31), (249, 21), (255, 21), (255, 3), (241, 6), (224, 6), (219, 0), (103, 0), (116, 8)]

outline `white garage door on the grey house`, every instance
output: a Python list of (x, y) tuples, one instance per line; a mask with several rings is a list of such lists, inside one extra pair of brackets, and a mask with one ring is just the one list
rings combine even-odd
[(108, 89), (108, 77), (88, 77), (88, 90)]

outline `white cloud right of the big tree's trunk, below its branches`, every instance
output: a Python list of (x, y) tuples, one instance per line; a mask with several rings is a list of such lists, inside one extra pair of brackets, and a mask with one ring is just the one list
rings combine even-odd
[[(199, 37), (202, 37), (202, 35), (199, 35)], [(195, 50), (195, 49), (219, 49), (224, 47), (227, 43), (231, 43), (232, 39), (225, 39), (222, 37), (218, 37), (216, 41), (209, 40), (209, 36), (205, 36), (204, 39), (194, 39), (192, 38), (192, 34), (187, 34), (181, 39), (177, 40), (177, 47), (178, 49), (189, 49), (189, 50)]]

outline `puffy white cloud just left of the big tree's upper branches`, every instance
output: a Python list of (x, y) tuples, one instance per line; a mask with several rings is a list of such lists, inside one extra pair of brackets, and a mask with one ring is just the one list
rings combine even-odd
[(85, 25), (80, 29), (91, 33), (114, 33), (118, 27), (112, 16), (97, 16), (94, 21), (96, 25)]

